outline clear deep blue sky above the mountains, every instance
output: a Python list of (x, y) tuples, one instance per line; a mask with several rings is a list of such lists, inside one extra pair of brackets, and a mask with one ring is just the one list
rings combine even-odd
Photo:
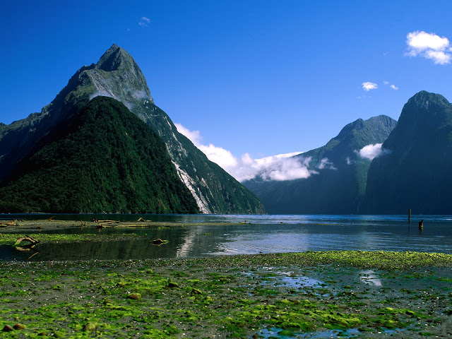
[(355, 119), (398, 119), (420, 90), (452, 100), (450, 13), (450, 1), (7, 1), (0, 121), (40, 112), (116, 43), (199, 143), (311, 150)]

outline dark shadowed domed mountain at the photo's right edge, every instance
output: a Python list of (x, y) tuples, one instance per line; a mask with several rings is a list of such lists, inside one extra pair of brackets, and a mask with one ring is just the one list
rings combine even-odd
[(408, 100), (369, 168), (367, 213), (451, 214), (452, 105), (422, 91)]

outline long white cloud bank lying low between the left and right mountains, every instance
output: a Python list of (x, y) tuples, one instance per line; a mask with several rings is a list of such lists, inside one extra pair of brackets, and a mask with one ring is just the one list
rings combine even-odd
[(235, 157), (230, 150), (217, 147), (213, 144), (203, 145), (203, 138), (199, 131), (190, 131), (182, 124), (174, 124), (179, 133), (184, 134), (194, 145), (199, 148), (210, 161), (220, 165), (222, 169), (232, 175), (239, 182), (260, 177), (263, 180), (295, 180), (307, 178), (315, 171), (308, 169), (311, 158), (293, 158), (302, 152), (286, 153), (253, 159), (249, 153), (242, 157)]

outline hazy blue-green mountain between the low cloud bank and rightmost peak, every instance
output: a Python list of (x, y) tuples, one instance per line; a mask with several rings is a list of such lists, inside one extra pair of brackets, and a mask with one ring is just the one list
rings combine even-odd
[(383, 143), (397, 122), (380, 115), (345, 126), (326, 145), (293, 157), (310, 176), (290, 181), (253, 179), (244, 185), (261, 199), (268, 213), (359, 213), (371, 160), (359, 155), (366, 145)]

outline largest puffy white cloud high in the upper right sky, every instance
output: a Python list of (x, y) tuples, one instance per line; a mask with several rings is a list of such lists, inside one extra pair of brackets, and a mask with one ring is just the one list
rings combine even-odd
[(434, 61), (434, 64), (449, 64), (451, 54), (449, 40), (447, 37), (440, 37), (434, 33), (427, 33), (423, 30), (416, 30), (407, 35), (408, 52), (405, 56), (421, 56)]

